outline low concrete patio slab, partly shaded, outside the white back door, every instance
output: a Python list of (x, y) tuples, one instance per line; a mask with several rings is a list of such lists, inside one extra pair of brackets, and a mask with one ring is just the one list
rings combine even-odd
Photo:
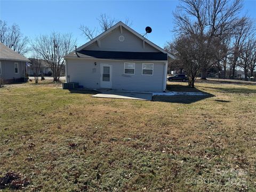
[(134, 93), (134, 92), (103, 92), (92, 95), (97, 98), (113, 98), (113, 99), (137, 99), (137, 100), (152, 100), (151, 93)]

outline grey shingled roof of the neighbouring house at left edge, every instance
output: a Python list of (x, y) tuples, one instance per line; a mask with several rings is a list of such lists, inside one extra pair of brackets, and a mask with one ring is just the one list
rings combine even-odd
[(29, 60), (26, 57), (24, 57), (21, 54), (13, 51), (9, 47), (5, 46), (3, 43), (0, 43), (0, 59), (29, 62)]

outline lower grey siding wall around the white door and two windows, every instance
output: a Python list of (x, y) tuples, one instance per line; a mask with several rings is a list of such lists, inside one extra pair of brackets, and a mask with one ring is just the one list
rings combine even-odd
[(78, 82), (84, 87), (99, 89), (100, 64), (102, 63), (112, 66), (113, 90), (161, 92), (163, 89), (163, 62), (154, 63), (153, 75), (142, 75), (142, 62), (135, 62), (135, 75), (124, 75), (125, 61), (98, 61), (96, 66), (94, 62), (93, 60), (68, 59), (67, 75), (69, 75), (69, 82)]

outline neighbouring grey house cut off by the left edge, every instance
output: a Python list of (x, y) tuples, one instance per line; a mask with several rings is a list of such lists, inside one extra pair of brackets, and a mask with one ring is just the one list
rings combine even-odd
[(29, 60), (0, 43), (0, 78), (4, 82), (26, 82), (26, 62)]

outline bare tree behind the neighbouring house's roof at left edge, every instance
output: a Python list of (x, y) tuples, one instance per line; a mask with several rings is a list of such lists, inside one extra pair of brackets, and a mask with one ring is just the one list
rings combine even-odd
[(21, 55), (30, 51), (27, 46), (28, 37), (21, 34), (20, 27), (15, 23), (12, 26), (7, 26), (5, 21), (0, 20), (0, 41)]

